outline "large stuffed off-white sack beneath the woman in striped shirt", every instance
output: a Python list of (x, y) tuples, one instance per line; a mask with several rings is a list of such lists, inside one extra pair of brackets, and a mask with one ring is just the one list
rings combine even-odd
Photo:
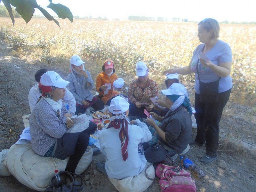
[[(92, 148), (87, 147), (76, 167), (76, 173), (84, 172), (92, 162)], [(68, 158), (60, 160), (52, 157), (42, 157), (37, 155), (31, 143), (12, 145), (9, 155), (5, 160), (12, 175), (27, 187), (44, 191), (48, 187), (50, 179), (54, 176), (54, 170), (65, 171)]]

